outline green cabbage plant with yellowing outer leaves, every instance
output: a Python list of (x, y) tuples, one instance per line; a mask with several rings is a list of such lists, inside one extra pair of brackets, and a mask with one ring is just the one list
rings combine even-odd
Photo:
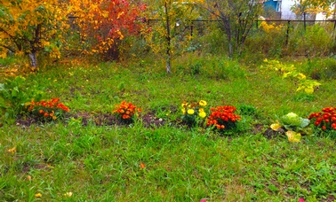
[(278, 132), (284, 132), (290, 142), (299, 143), (301, 135), (310, 134), (310, 131), (306, 128), (309, 122), (308, 119), (303, 119), (296, 113), (287, 113), (280, 120), (276, 120), (276, 123), (273, 123), (270, 128)]

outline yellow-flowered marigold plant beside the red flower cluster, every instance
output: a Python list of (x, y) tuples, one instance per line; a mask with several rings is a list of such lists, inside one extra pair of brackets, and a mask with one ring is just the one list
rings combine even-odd
[(196, 126), (196, 124), (201, 123), (201, 121), (206, 117), (204, 107), (207, 105), (206, 101), (201, 100), (196, 102), (183, 102), (182, 103), (182, 122), (187, 124), (189, 127)]

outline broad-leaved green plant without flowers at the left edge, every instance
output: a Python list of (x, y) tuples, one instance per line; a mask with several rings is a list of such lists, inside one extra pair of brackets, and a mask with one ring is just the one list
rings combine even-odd
[(0, 110), (3, 111), (4, 120), (11, 120), (24, 110), (25, 104), (34, 97), (39, 100), (43, 91), (38, 90), (36, 86), (24, 88), (26, 79), (22, 76), (6, 79), (4, 83), (0, 83)]

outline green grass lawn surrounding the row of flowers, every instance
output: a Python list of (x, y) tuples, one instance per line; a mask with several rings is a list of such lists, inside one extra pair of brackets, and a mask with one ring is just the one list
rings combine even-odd
[[(280, 73), (227, 58), (180, 58), (170, 75), (150, 60), (47, 66), (26, 87), (44, 88), (45, 99), (60, 97), (71, 111), (65, 120), (0, 128), (0, 201), (333, 201), (334, 139), (263, 135), (286, 113), (335, 106), (335, 80), (319, 82), (308, 95)], [(232, 133), (181, 125), (181, 103), (201, 99), (256, 112), (242, 114)], [(164, 126), (97, 120), (123, 100)], [(84, 125), (81, 114), (89, 114)]]

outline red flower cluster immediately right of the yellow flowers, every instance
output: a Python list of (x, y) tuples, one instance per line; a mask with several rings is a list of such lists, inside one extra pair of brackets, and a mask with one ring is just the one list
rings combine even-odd
[(234, 114), (236, 111), (235, 106), (216, 106), (211, 108), (211, 114), (206, 120), (206, 126), (215, 126), (217, 129), (224, 129), (230, 127), (240, 120), (240, 116)]

